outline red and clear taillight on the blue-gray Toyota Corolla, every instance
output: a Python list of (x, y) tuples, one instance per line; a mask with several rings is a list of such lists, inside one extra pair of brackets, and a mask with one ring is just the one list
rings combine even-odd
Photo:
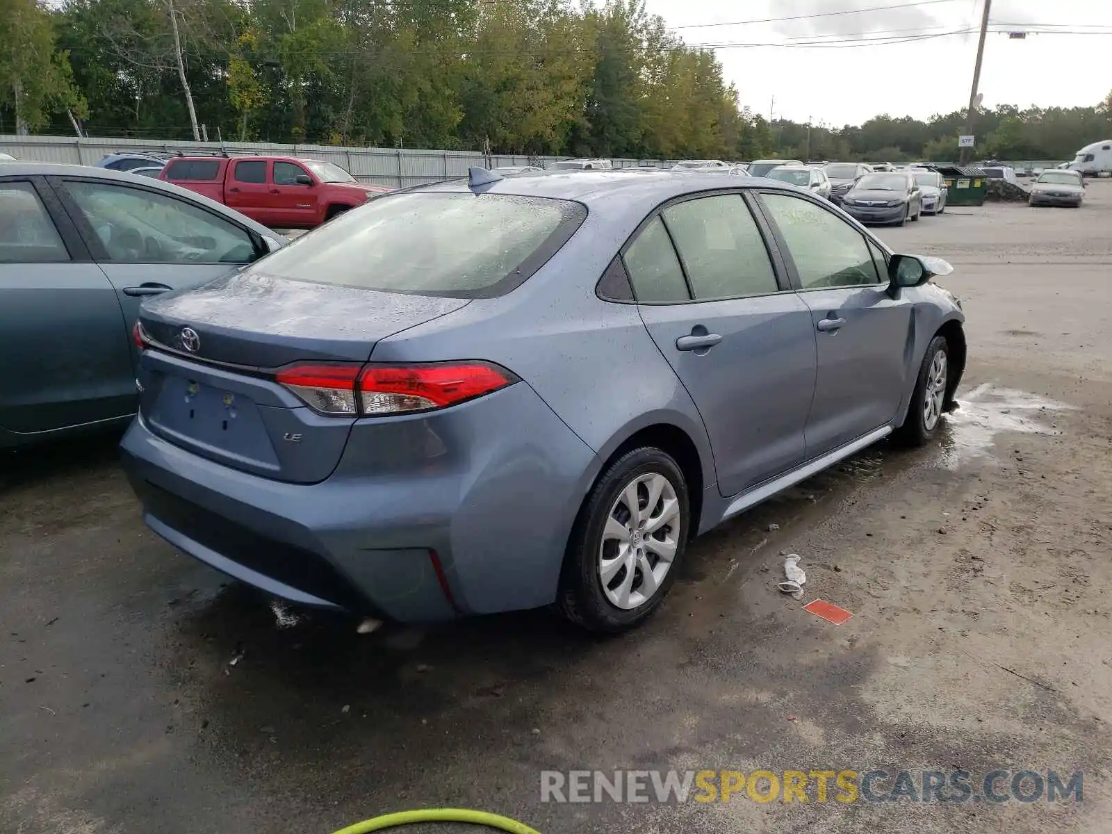
[(353, 417), (447, 408), (517, 381), (488, 363), (296, 365), (275, 378), (315, 411)]

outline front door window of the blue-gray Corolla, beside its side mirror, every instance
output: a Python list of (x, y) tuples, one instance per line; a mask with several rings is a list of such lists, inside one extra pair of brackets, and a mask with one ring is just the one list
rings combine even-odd
[(803, 289), (880, 282), (865, 238), (850, 224), (792, 195), (761, 199), (787, 244)]

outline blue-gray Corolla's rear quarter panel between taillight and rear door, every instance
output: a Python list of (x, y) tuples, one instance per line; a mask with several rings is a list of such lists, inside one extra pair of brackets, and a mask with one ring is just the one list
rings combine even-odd
[(711, 486), (706, 429), (637, 307), (595, 295), (632, 230), (589, 216), (569, 245), (514, 291), (384, 339), (370, 358), (496, 361), (528, 383), (603, 461), (638, 429), (673, 425), (695, 444), (704, 487)]

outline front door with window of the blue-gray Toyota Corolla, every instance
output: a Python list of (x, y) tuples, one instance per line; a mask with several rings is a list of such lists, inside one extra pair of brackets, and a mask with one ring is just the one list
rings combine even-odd
[(818, 375), (807, 417), (814, 458), (885, 426), (906, 388), (912, 304), (887, 291), (883, 259), (855, 226), (812, 200), (761, 195), (811, 309)]

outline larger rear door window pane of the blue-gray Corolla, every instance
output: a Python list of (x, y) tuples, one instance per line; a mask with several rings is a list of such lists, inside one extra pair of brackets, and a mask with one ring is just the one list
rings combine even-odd
[(761, 231), (739, 195), (669, 206), (664, 220), (696, 301), (780, 290)]

